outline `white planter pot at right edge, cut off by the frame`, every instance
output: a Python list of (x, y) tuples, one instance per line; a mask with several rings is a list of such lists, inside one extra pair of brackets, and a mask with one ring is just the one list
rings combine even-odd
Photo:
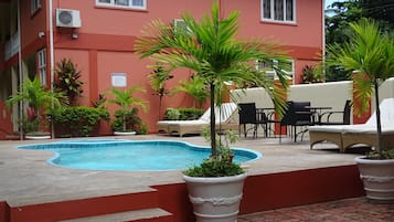
[(366, 198), (394, 202), (394, 159), (371, 160), (356, 157), (354, 160), (359, 166)]

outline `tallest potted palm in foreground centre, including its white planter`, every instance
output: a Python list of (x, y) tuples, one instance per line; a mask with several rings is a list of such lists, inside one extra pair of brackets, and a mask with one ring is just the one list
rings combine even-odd
[[(159, 62), (162, 72), (190, 68), (204, 81), (210, 93), (211, 156), (200, 166), (185, 170), (183, 179), (198, 221), (236, 221), (246, 173), (233, 162), (231, 150), (216, 135), (215, 106), (222, 103), (220, 92), (225, 88), (225, 83), (231, 82), (239, 87), (265, 87), (277, 110), (283, 112), (285, 102), (279, 91), (262, 75), (263, 71), (256, 71), (255, 64), (257, 61), (285, 61), (286, 57), (278, 45), (263, 41), (237, 41), (238, 12), (233, 11), (223, 19), (217, 3), (212, 7), (211, 15), (205, 14), (200, 21), (190, 13), (182, 13), (181, 18), (187, 24), (185, 29), (174, 29), (160, 20), (152, 21), (145, 30), (145, 36), (137, 39), (136, 50), (141, 57)], [(276, 71), (286, 86), (284, 72), (280, 68)], [(212, 191), (211, 188), (216, 190)], [(219, 197), (212, 197), (214, 193)]]

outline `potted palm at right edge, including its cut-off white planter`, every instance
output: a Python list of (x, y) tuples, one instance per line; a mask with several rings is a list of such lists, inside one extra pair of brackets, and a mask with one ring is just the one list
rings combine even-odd
[[(382, 124), (379, 107), (379, 86), (388, 77), (394, 76), (394, 41), (390, 33), (383, 33), (379, 24), (371, 19), (350, 23), (352, 33), (350, 42), (342, 46), (329, 46), (332, 57), (329, 63), (353, 71), (354, 95), (358, 95), (362, 114), (369, 108), (369, 99), (374, 93), (376, 113), (375, 150), (365, 157), (358, 157), (361, 178), (366, 197), (379, 201), (394, 201), (394, 151), (393, 147), (383, 147), (381, 142)], [(355, 71), (355, 72), (354, 72)]]

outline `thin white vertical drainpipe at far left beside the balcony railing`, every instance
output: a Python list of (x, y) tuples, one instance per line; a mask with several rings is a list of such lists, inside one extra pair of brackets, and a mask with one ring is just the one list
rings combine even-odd
[[(19, 85), (21, 86), (23, 84), (23, 68), (22, 68), (22, 44), (21, 44), (21, 3), (20, 0), (18, 0), (17, 3), (17, 14), (18, 14), (18, 72), (19, 72)], [(12, 43), (11, 43), (12, 44)], [(23, 101), (19, 102), (19, 136), (20, 140), (23, 140)]]

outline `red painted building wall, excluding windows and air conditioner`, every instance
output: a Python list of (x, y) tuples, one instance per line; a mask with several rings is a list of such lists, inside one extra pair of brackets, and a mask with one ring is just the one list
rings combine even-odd
[[(147, 10), (127, 10), (108, 7), (96, 7), (95, 1), (55, 0), (53, 1), (53, 18), (55, 9), (75, 9), (81, 12), (82, 27), (78, 29), (56, 28), (54, 21), (54, 61), (63, 57), (71, 59), (77, 68), (82, 71), (84, 94), (79, 98), (79, 105), (92, 105), (98, 98), (99, 93), (107, 92), (110, 85), (111, 73), (126, 73), (127, 86), (142, 86), (146, 94), (137, 96), (150, 102), (149, 112), (140, 112), (140, 116), (148, 124), (150, 133), (156, 131), (156, 121), (159, 116), (159, 98), (152, 95), (147, 74), (149, 60), (140, 60), (134, 53), (134, 41), (141, 34), (141, 30), (149, 21), (160, 19), (167, 23), (179, 19), (181, 12), (190, 12), (196, 19), (204, 13), (210, 13), (212, 0), (147, 0)], [(22, 52), (23, 56), (35, 53), (46, 44), (49, 45), (49, 6), (42, 1), (42, 8), (33, 15), (30, 13), (30, 1), (21, 1), (22, 13)], [(322, 1), (297, 0), (296, 22), (284, 24), (277, 22), (262, 22), (260, 0), (220, 0), (223, 15), (233, 10), (241, 11), (239, 38), (263, 39), (284, 44), (288, 54), (295, 60), (297, 72), (296, 83), (300, 82), (300, 71), (305, 64), (313, 63), (317, 53), (322, 49)], [(45, 36), (40, 39), (38, 33), (45, 31)], [(72, 38), (72, 33), (78, 35)], [(50, 67), (47, 56), (47, 71)], [(177, 71), (174, 78), (168, 83), (169, 87), (175, 85), (179, 80), (190, 76), (190, 71)], [(50, 72), (49, 77), (50, 80)], [(191, 106), (192, 99), (188, 95), (179, 94), (173, 97), (164, 97), (163, 108)], [(114, 110), (115, 106), (109, 106)], [(108, 129), (105, 130), (108, 133)]]

